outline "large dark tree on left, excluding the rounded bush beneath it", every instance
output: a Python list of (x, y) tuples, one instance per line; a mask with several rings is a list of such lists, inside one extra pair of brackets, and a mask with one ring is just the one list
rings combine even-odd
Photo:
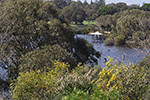
[(9, 0), (0, 6), (0, 62), (10, 80), (18, 77), (22, 56), (34, 50), (42, 52), (43, 47), (54, 44), (72, 53), (74, 59), (86, 62), (90, 55), (75, 48), (78, 43), (52, 2)]

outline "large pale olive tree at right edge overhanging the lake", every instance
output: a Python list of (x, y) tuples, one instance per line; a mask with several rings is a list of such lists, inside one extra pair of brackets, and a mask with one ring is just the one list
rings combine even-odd
[[(132, 9), (120, 13), (121, 16), (116, 23), (117, 33), (124, 29), (130, 30), (128, 37), (128, 33), (126, 34), (128, 45), (138, 52), (150, 54), (148, 50), (150, 46), (150, 13), (140, 9)], [(137, 48), (142, 48), (142, 50)]]

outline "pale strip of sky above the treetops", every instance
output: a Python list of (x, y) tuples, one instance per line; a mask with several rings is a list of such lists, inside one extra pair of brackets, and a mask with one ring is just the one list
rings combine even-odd
[[(75, 0), (77, 1), (77, 0)], [(80, 0), (80, 1), (84, 1), (84, 0)], [(95, 1), (95, 0), (93, 0)], [(87, 0), (87, 2), (91, 2), (91, 0)], [(118, 3), (118, 2), (125, 2), (127, 5), (131, 5), (131, 4), (137, 4), (142, 6), (143, 3), (150, 3), (150, 0), (105, 0), (106, 4), (109, 3)]]

